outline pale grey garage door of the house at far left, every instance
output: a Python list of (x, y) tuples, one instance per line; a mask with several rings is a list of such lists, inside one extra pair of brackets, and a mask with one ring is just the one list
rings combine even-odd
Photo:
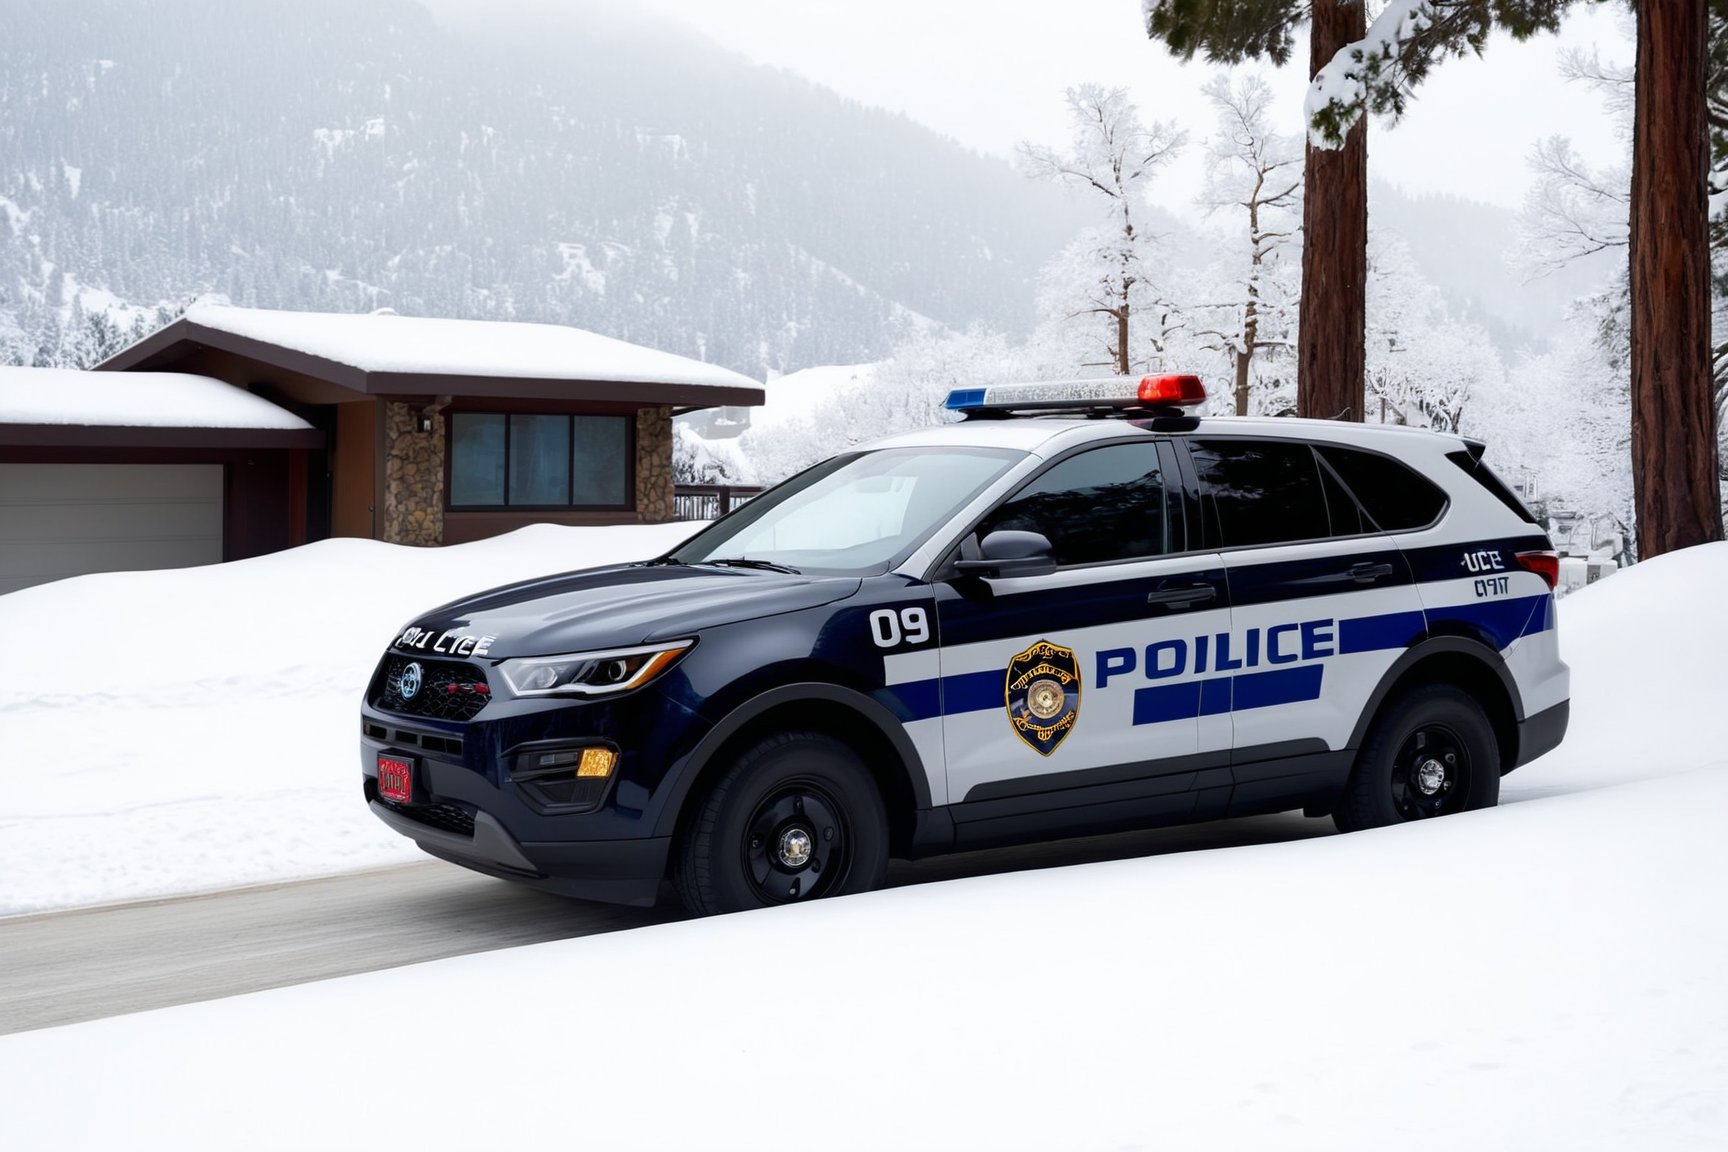
[(0, 465), (0, 594), (221, 561), (221, 465)]

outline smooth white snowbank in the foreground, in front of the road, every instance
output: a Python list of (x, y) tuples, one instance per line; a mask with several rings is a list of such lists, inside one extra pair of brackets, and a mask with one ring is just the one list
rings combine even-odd
[(21, 1033), (0, 1145), (1714, 1150), (1723, 812), (1728, 765)]

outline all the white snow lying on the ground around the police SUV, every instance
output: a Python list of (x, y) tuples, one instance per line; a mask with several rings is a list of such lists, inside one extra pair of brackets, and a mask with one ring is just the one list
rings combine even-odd
[[(0, 634), (35, 677), (0, 694), (22, 734), (5, 803), (24, 803), (0, 819), (0, 876), (79, 886), (95, 870), (86, 891), (124, 895), (114, 865), (145, 850), (183, 867), (214, 817), (225, 839), (202, 841), (199, 874), (213, 886), (257, 869), (249, 845), (304, 836), (304, 815), (325, 869), (382, 858), (351, 729), (410, 611), (401, 589), (430, 603), (676, 535), (591, 532), (442, 553), (330, 542), (0, 598)], [(1567, 598), (1572, 731), (1507, 779), (1515, 803), (1496, 810), (0, 1036), (0, 1147), (722, 1149), (797, 1133), (833, 1149), (1718, 1150), (1725, 584), (1714, 544)], [(135, 656), (152, 661), (142, 689)], [(252, 755), (230, 724), (252, 729)], [(283, 812), (295, 786), (304, 803)], [(128, 820), (152, 805), (187, 843), (137, 839)], [(503, 1079), (475, 1071), (505, 1054)]]

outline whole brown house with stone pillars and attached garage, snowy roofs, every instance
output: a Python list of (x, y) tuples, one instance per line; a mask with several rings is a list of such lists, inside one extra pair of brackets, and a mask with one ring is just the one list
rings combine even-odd
[[(674, 520), (674, 413), (762, 402), (748, 377), (579, 328), (213, 302), (97, 373), (5, 373), (0, 591), (332, 535)], [(232, 406), (252, 423), (211, 423)]]

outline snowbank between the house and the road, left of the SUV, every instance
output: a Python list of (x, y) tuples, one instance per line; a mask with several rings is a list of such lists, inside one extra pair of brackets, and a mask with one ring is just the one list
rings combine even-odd
[(700, 525), (325, 541), (0, 596), (0, 915), (418, 858), (359, 800), (359, 699), (420, 611)]

